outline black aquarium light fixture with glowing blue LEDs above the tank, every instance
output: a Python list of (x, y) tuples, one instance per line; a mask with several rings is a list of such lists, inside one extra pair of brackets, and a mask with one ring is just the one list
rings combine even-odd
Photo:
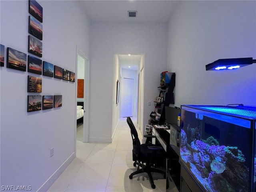
[(206, 71), (209, 70), (232, 70), (256, 63), (256, 59), (252, 57), (246, 58), (232, 58), (232, 59), (218, 59), (206, 65)]

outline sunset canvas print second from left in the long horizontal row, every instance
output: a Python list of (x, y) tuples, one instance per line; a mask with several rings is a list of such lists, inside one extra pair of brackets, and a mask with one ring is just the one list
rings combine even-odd
[(7, 48), (7, 66), (8, 68), (26, 71), (27, 54)]

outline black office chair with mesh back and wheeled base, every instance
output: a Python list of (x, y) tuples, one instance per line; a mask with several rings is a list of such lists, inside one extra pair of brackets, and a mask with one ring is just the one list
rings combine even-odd
[(132, 176), (146, 172), (149, 177), (150, 185), (152, 189), (154, 189), (156, 188), (156, 186), (154, 184), (151, 172), (162, 173), (164, 174), (164, 178), (166, 178), (165, 171), (154, 168), (159, 166), (160, 164), (165, 165), (165, 151), (161, 146), (156, 146), (154, 144), (140, 144), (138, 133), (130, 117), (127, 117), (127, 123), (130, 127), (132, 135), (132, 160), (135, 161), (134, 166), (138, 165), (137, 170), (130, 174), (129, 178), (132, 179)]

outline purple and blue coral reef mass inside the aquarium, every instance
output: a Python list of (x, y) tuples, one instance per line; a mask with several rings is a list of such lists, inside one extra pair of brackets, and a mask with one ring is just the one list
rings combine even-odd
[[(238, 147), (220, 146), (214, 137), (206, 140), (196, 139), (200, 136), (196, 133), (197, 128), (188, 125), (187, 130), (190, 130), (189, 134), (181, 130), (180, 155), (206, 190), (247, 192), (249, 169), (244, 165), (246, 159), (242, 151)], [(190, 144), (188, 138), (194, 138)]]

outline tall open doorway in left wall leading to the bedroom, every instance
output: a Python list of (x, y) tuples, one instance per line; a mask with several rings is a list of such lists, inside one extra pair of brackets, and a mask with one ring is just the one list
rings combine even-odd
[[(76, 85), (78, 85), (78, 79), (82, 80), (83, 82), (83, 96), (77, 98), (76, 105), (80, 103), (84, 109), (84, 115), (80, 120), (76, 120), (77, 123), (77, 130), (76, 130), (76, 139), (80, 140), (81, 142), (88, 142), (89, 140), (89, 74), (90, 74), (90, 60), (85, 54), (80, 50), (80, 48), (76, 47), (76, 55), (77, 55), (77, 62), (76, 62), (76, 74), (77, 74), (77, 81)], [(76, 92), (77, 96), (77, 92)], [(82, 120), (81, 120), (82, 119)], [(82, 124), (81, 124), (82, 122)], [(79, 123), (79, 124), (78, 124)], [(80, 126), (78, 126), (80, 125)]]

